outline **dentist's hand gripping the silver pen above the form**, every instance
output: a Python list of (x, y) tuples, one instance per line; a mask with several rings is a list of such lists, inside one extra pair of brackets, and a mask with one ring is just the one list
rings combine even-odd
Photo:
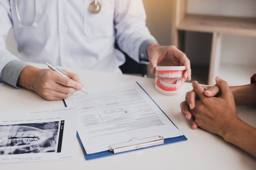
[(17, 81), (17, 85), (36, 92), (46, 100), (62, 100), (82, 89), (78, 76), (63, 70), (70, 78), (66, 78), (50, 69), (25, 67)]

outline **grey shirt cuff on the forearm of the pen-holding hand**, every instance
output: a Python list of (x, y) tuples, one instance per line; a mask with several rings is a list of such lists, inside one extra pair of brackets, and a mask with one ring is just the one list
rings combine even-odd
[(17, 87), (18, 77), (20, 76), (20, 72), (26, 67), (28, 64), (24, 63), (20, 60), (12, 60), (7, 65), (4, 66), (0, 73), (0, 81), (8, 83), (13, 87)]

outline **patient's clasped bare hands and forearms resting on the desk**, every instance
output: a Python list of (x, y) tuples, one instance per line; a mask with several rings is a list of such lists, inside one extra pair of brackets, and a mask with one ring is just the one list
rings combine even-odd
[(229, 87), (217, 76), (214, 86), (203, 87), (197, 81), (192, 86), (193, 90), (187, 92), (185, 101), (180, 104), (192, 129), (199, 126), (220, 135), (256, 157), (256, 129), (243, 122), (236, 111), (236, 105), (256, 105), (256, 83)]

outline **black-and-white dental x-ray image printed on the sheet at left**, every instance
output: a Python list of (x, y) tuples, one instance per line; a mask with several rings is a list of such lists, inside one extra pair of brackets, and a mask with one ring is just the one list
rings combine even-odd
[(55, 152), (59, 122), (0, 125), (0, 155)]

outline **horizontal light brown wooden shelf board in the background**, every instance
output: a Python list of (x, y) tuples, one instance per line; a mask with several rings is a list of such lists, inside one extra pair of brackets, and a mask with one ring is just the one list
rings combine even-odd
[(256, 18), (185, 14), (177, 29), (256, 37)]

